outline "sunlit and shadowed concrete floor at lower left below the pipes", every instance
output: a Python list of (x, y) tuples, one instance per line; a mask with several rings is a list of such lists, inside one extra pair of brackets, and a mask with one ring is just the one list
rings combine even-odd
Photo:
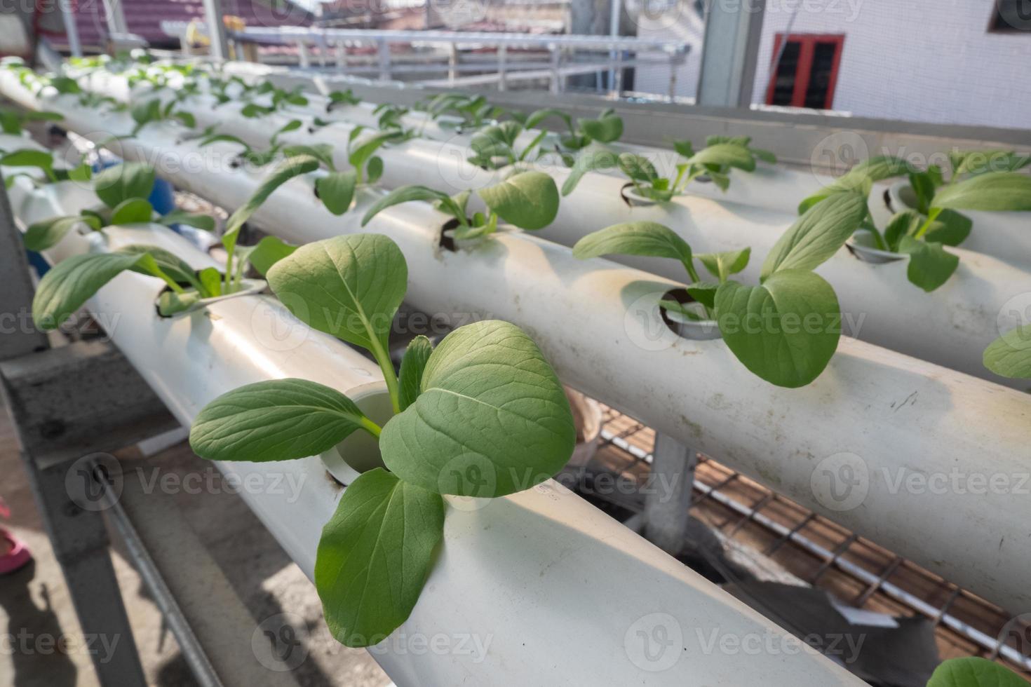
[[(152, 475), (208, 475), (212, 466), (179, 443), (145, 459)], [(26, 542), (35, 557), (27, 569), (0, 577), (0, 686), (94, 687), (98, 685), (90, 654), (19, 457), (6, 409), (0, 406), (0, 496), (11, 511), (0, 525)], [(182, 482), (178, 482), (182, 484)], [(202, 481), (206, 484), (206, 481)], [(304, 687), (347, 685), (383, 687), (390, 679), (364, 650), (337, 644), (322, 621), (314, 587), (287, 557), (239, 496), (221, 488), (179, 490), (174, 503), (210, 550), (253, 618), (289, 612), (301, 627), (306, 652), (293, 669)], [(211, 523), (218, 523), (212, 527)], [(115, 549), (118, 543), (115, 543)], [(119, 586), (126, 603), (136, 645), (149, 685), (187, 687), (196, 681), (172, 634), (132, 565), (112, 552)], [(189, 564), (185, 561), (185, 564)], [(63, 638), (66, 651), (55, 645)], [(102, 650), (102, 649), (101, 649)], [(271, 678), (271, 674), (270, 674)], [(259, 687), (259, 686), (254, 686)]]

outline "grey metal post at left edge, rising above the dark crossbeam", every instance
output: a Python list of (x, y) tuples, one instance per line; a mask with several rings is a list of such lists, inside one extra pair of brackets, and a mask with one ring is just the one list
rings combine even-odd
[(0, 313), (13, 317), (8, 332), (0, 336), (0, 360), (25, 355), (47, 347), (46, 335), (32, 323), (32, 280), (25, 260), (25, 244), (14, 227), (3, 173), (0, 172), (0, 268), (4, 285), (0, 288)]

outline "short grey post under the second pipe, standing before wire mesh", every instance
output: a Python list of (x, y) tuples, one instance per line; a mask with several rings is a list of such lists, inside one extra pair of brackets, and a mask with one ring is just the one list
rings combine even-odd
[(656, 434), (651, 490), (644, 496), (644, 536), (671, 555), (684, 548), (698, 453), (666, 435)]

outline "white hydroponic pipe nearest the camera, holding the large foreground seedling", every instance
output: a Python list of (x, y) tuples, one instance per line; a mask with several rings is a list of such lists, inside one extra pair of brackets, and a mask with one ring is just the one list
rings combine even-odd
[[(11, 196), (26, 225), (96, 203), (74, 182), (34, 190), (20, 179)], [(48, 256), (60, 261), (132, 243), (158, 245), (196, 268), (214, 265), (157, 225), (107, 227), (103, 237), (72, 232)], [(319, 381), (367, 411), (367, 402), (386, 392), (373, 363), (308, 329), (274, 298), (230, 296), (164, 318), (155, 308), (163, 287), (159, 279), (125, 272), (88, 308), (100, 321), (114, 323), (108, 330), (113, 343), (185, 424), (221, 393), (267, 379)], [(357, 448), (350, 442), (338, 450), (363, 459), (350, 454)], [(333, 453), (289, 462), (215, 463), (251, 485), (241, 489), (242, 497), (309, 578), (322, 524), (342, 492), (326, 474), (327, 466), (341, 465)], [(299, 490), (276, 486), (287, 483)], [(396, 684), (863, 684), (554, 481), (486, 507), (461, 499), (451, 503), (426, 591), (408, 620), (370, 650)], [(596, 603), (593, 595), (610, 603)], [(664, 632), (663, 644), (642, 643), (656, 632)], [(710, 637), (761, 641), (773, 649), (742, 660), (706, 650)]]

